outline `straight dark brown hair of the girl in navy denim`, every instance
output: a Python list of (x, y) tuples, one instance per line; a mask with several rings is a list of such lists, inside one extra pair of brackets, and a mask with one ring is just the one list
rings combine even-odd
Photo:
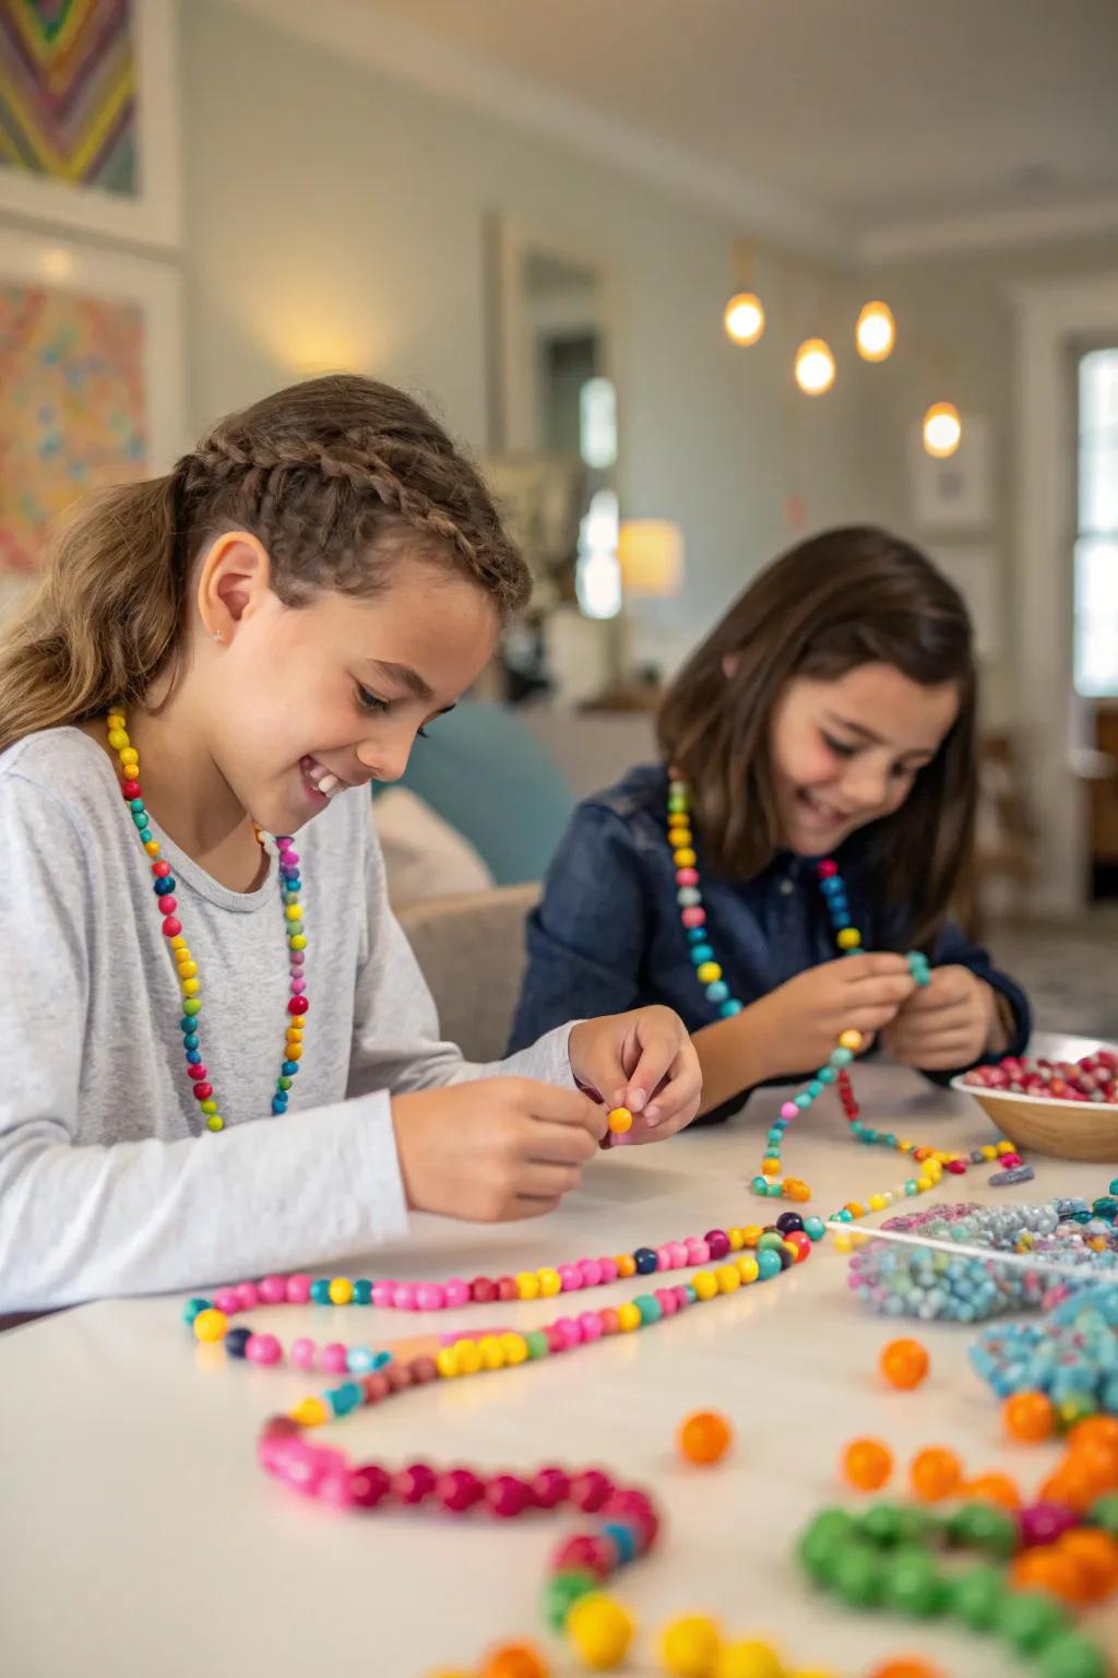
[(959, 686), (959, 715), (939, 752), (900, 809), (873, 824), (887, 904), (907, 916), (912, 943), (929, 945), (970, 868), (976, 670), (967, 607), (915, 547), (857, 525), (774, 560), (669, 688), (660, 752), (691, 784), (712, 868), (748, 879), (779, 846), (769, 760), (779, 693), (793, 676), (833, 681), (870, 663), (924, 686)]

